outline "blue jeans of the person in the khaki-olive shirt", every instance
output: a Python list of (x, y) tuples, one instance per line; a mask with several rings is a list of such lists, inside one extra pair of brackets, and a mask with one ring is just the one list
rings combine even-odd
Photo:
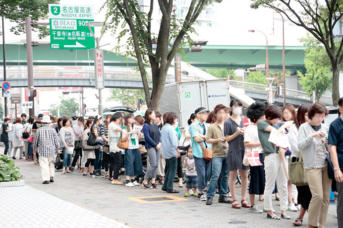
[(217, 181), (219, 175), (221, 174), (220, 180), (220, 193), (221, 196), (226, 196), (227, 189), (228, 189), (228, 176), (230, 172), (228, 171), (227, 159), (226, 157), (222, 158), (212, 158), (212, 175), (210, 179), (210, 183), (208, 185), (207, 196), (214, 197), (215, 187), (217, 185)]

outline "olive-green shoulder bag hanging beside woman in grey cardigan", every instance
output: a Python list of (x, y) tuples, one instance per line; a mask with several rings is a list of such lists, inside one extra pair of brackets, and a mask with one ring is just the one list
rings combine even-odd
[(299, 151), (295, 162), (290, 163), (290, 180), (296, 186), (308, 185), (302, 151)]

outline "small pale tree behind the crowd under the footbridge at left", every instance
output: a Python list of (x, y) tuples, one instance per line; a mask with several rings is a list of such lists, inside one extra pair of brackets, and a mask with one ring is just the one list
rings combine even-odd
[(60, 97), (61, 103), (60, 104), (52, 104), (50, 105), (49, 111), (54, 116), (58, 116), (59, 109), (60, 109), (60, 116), (74, 116), (77, 115), (79, 111), (79, 104), (76, 102), (75, 98), (67, 98), (64, 99)]

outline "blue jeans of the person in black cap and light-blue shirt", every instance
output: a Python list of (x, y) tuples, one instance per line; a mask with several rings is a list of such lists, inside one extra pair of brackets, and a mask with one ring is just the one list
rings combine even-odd
[(194, 157), (195, 169), (198, 174), (199, 191), (204, 191), (211, 174), (211, 161)]

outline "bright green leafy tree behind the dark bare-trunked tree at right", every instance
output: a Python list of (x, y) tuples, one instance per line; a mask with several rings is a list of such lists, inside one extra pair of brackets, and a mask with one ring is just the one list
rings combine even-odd
[(331, 64), (327, 56), (325, 47), (313, 37), (307, 35), (301, 41), (308, 46), (305, 49), (305, 75), (298, 71), (300, 77), (299, 83), (308, 96), (316, 92), (315, 100), (319, 101), (321, 96), (332, 88), (332, 73), (330, 72)]

